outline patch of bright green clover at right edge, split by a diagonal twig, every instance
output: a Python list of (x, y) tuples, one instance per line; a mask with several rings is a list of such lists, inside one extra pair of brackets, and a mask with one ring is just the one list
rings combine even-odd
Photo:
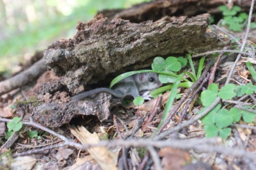
[[(235, 84), (227, 84), (219, 90), (217, 84), (210, 84), (207, 90), (201, 93), (201, 101), (205, 108), (199, 112), (202, 113), (213, 101), (219, 96), (222, 99), (231, 99), (234, 96), (250, 95), (256, 92), (256, 86), (252, 86), (252, 83), (248, 83), (246, 86), (235, 86)], [(231, 128), (228, 128), (232, 122), (238, 122), (241, 118), (243, 121), (250, 123), (254, 122), (255, 113), (248, 112), (246, 110), (231, 108), (220, 109), (220, 104), (217, 105), (208, 115), (204, 116), (201, 121), (204, 124), (204, 130), (206, 137), (220, 136), (222, 139), (226, 139), (231, 134)], [(251, 107), (249, 107), (251, 109)]]

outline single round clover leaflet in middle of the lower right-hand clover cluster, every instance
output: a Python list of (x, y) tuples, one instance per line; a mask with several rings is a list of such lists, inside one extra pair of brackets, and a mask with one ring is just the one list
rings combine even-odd
[(213, 122), (216, 123), (217, 127), (225, 128), (232, 124), (233, 118), (226, 109), (220, 109), (219, 112), (213, 117)]

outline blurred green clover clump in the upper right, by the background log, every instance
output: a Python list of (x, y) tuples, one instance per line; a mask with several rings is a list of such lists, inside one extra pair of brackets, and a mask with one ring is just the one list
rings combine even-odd
[[(222, 5), (219, 7), (219, 10), (222, 11), (223, 14), (222, 25), (227, 25), (232, 31), (243, 31), (243, 28), (248, 21), (248, 14), (238, 14), (238, 12), (241, 11), (241, 8), (235, 5), (231, 9), (229, 9), (226, 5)], [(251, 23), (251, 28), (256, 28), (255, 22)]]

